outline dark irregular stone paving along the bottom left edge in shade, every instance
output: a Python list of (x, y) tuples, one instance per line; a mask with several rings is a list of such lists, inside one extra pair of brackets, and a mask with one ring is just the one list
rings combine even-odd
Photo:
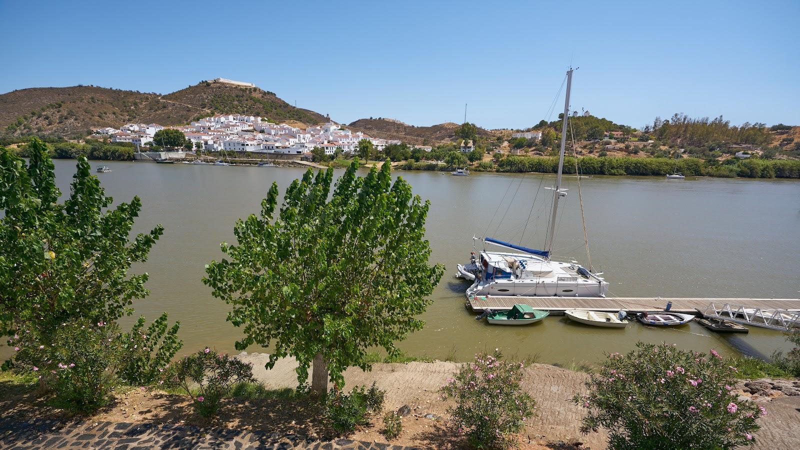
[(0, 448), (91, 448), (114, 450), (212, 449), (245, 450), (308, 448), (319, 450), (414, 450), (412, 447), (338, 439), (321, 441), (300, 435), (245, 432), (227, 428), (190, 425), (128, 424), (113, 422), (62, 422), (33, 420), (0, 422)]

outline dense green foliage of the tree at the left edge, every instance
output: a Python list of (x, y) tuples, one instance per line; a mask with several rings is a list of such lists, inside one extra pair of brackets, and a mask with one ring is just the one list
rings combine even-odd
[[(148, 295), (147, 274), (129, 275), (163, 233), (160, 225), (128, 239), (142, 208), (138, 197), (109, 208), (85, 158), (78, 159), (70, 196), (58, 203), (53, 162), (31, 139), (30, 162), (0, 150), (0, 323), (43, 330), (82, 317), (111, 322)], [(106, 209), (109, 208), (109, 209)]]

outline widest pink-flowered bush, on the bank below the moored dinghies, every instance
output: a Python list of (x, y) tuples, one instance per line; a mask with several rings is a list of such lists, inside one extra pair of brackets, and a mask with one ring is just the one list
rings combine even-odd
[(575, 404), (589, 410), (583, 432), (607, 428), (609, 448), (734, 448), (754, 444), (763, 407), (730, 391), (736, 368), (674, 345), (636, 344), (609, 355)]

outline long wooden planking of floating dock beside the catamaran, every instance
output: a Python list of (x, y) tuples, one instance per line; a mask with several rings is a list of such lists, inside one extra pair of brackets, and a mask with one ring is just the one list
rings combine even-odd
[(479, 295), (467, 300), (466, 306), (474, 312), (486, 308), (494, 310), (511, 309), (514, 304), (526, 304), (536, 309), (563, 314), (568, 309), (591, 309), (593, 311), (631, 312), (664, 311), (666, 302), (672, 302), (670, 311), (698, 315), (699, 309), (706, 309), (709, 303), (738, 303), (750, 307), (764, 307), (800, 311), (800, 299), (726, 299), (726, 298), (670, 298), (670, 297), (516, 297), (507, 295)]

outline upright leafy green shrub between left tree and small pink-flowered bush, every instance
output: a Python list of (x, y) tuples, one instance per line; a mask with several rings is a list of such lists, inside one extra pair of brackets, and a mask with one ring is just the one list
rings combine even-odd
[(175, 353), (183, 347), (183, 341), (178, 339), (181, 323), (176, 322), (167, 330), (166, 312), (150, 323), (146, 330), (143, 330), (144, 326), (145, 317), (142, 315), (130, 333), (121, 338), (125, 359), (120, 368), (120, 377), (138, 386), (153, 384)]

